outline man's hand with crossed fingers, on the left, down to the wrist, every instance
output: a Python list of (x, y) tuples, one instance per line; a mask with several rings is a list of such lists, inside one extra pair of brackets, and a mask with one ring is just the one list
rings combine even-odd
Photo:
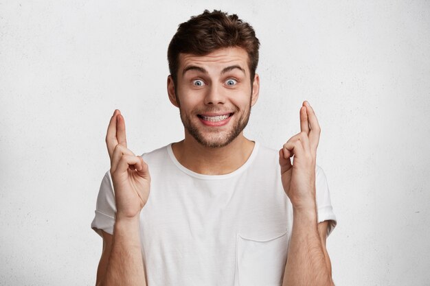
[(106, 145), (111, 158), (116, 219), (135, 219), (148, 201), (150, 175), (144, 159), (127, 149), (126, 125), (120, 110), (113, 112)]

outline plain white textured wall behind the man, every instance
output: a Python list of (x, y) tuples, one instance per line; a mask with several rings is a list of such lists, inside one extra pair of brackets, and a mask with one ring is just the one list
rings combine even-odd
[(0, 285), (94, 285), (90, 228), (120, 108), (131, 150), (179, 141), (177, 25), (236, 12), (261, 41), (245, 134), (279, 148), (315, 108), (337, 285), (430, 285), (429, 1), (0, 1)]

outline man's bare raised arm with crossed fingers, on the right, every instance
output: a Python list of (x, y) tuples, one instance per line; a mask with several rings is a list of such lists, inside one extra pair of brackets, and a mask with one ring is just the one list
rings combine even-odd
[(282, 185), (293, 204), (293, 230), (282, 285), (332, 286), (326, 251), (327, 222), (318, 224), (315, 199), (320, 128), (308, 102), (300, 109), (300, 129), (280, 150)]

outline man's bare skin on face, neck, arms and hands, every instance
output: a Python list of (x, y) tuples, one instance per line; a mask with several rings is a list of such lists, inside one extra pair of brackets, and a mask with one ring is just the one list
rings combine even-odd
[[(170, 102), (199, 130), (203, 141), (225, 142), (232, 126), (247, 116), (248, 108), (258, 99), (260, 78), (256, 74), (251, 83), (247, 53), (234, 47), (219, 49), (207, 56), (181, 54), (179, 62), (177, 86), (168, 77)], [(210, 126), (201, 119), (202, 115), (227, 113), (229, 119), (223, 126)], [(315, 202), (315, 161), (320, 128), (308, 102), (303, 103), (299, 117), (301, 132), (280, 150), (282, 185), (294, 212), (282, 285), (333, 285), (326, 250), (328, 222), (317, 223)], [(142, 157), (127, 149), (124, 117), (119, 110), (111, 117), (106, 145), (111, 158), (117, 213), (113, 235), (102, 234), (103, 252), (96, 285), (146, 285), (139, 213), (150, 195), (150, 174)], [(188, 169), (220, 175), (243, 165), (253, 145), (240, 132), (223, 147), (205, 147), (185, 128), (185, 139), (174, 143), (172, 149), (174, 156)]]

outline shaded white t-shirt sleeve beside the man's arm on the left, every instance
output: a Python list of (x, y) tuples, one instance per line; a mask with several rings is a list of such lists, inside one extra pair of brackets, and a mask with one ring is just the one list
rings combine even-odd
[(98, 192), (97, 204), (95, 206), (95, 216), (91, 223), (91, 228), (102, 236), (104, 232), (113, 234), (113, 225), (115, 224), (115, 193), (113, 192), (110, 171), (107, 171), (103, 177), (100, 190)]

